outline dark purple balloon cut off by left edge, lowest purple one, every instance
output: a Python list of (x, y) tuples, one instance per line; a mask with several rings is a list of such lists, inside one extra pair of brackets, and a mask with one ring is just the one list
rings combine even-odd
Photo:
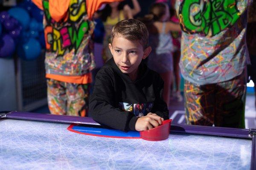
[(12, 57), (15, 51), (15, 42), (8, 34), (0, 38), (0, 57)]

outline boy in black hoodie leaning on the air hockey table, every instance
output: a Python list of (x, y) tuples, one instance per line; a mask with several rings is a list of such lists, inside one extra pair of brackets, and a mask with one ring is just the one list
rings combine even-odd
[(113, 58), (96, 75), (90, 96), (93, 119), (123, 131), (148, 130), (169, 119), (163, 80), (141, 62), (151, 52), (146, 26), (134, 19), (117, 23), (109, 49)]

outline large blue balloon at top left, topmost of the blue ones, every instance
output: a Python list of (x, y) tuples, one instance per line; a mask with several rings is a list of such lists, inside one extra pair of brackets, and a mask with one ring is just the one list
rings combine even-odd
[(15, 8), (9, 9), (8, 12), (9, 12), (10, 16), (14, 17), (16, 20), (18, 20), (20, 22), (20, 24), (24, 30), (26, 30), (26, 28), (28, 28), (30, 17), (29, 17), (28, 12), (25, 9), (20, 8), (20, 7), (15, 7)]

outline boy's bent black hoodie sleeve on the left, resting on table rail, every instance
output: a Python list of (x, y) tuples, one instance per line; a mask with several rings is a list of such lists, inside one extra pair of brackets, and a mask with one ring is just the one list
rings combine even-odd
[(96, 75), (93, 94), (90, 95), (89, 112), (102, 125), (127, 131), (135, 130), (137, 117), (114, 107), (114, 73), (102, 67)]

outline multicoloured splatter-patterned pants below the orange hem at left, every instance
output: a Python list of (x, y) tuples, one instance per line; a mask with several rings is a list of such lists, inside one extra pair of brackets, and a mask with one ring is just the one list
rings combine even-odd
[(52, 114), (87, 116), (89, 84), (47, 79), (48, 107)]

